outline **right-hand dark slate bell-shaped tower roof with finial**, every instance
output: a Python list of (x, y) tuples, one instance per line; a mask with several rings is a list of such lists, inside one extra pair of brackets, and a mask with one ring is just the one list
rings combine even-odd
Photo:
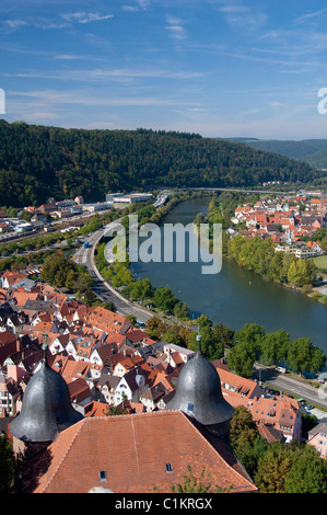
[(201, 353), (199, 332), (197, 341), (198, 352), (184, 365), (167, 410), (180, 410), (202, 425), (221, 424), (233, 416), (234, 409), (223, 398), (218, 371)]

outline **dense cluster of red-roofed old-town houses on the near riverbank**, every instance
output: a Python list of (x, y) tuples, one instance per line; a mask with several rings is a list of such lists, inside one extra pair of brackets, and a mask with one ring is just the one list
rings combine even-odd
[[(65, 380), (70, 402), (84, 420), (122, 421), (121, 416), (108, 415), (152, 414), (151, 420), (160, 423), (160, 414), (175, 413), (170, 411), (170, 403), (178, 377), (197, 353), (150, 337), (147, 328), (128, 318), (101, 306), (90, 307), (26, 273), (7, 271), (0, 286), (0, 423), (9, 437), (10, 424), (22, 411), (26, 387), (37, 377), (45, 355), (51, 370)], [(223, 399), (234, 409), (246, 408), (262, 438), (268, 443), (304, 442), (301, 400), (237, 376), (223, 358), (212, 366)], [(305, 442), (326, 458), (324, 419)], [(125, 491), (124, 480), (116, 488)], [(242, 488), (255, 489), (253, 483)]]

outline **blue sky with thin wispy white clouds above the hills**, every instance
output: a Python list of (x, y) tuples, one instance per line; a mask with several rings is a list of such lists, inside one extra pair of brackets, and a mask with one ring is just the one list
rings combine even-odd
[(327, 3), (2, 0), (9, 122), (327, 137)]

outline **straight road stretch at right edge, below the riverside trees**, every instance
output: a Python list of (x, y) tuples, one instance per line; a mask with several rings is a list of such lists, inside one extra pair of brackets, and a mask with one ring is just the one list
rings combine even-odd
[(307, 403), (315, 404), (327, 410), (327, 388), (325, 388), (325, 391), (322, 391), (301, 380), (293, 379), (288, 375), (280, 374), (262, 366), (257, 367), (256, 378), (272, 389), (283, 391), (285, 394), (289, 393), (294, 398), (305, 399)]

